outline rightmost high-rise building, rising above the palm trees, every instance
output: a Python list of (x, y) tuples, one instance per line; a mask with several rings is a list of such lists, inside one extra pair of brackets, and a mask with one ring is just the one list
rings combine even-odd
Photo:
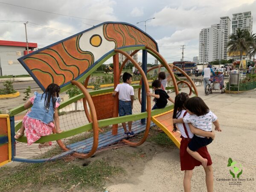
[(253, 31), (253, 16), (251, 12), (235, 13), (232, 18), (232, 33), (236, 29), (247, 29), (250, 33)]

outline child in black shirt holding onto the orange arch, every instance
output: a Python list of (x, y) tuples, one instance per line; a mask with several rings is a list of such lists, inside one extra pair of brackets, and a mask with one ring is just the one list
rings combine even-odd
[(167, 104), (167, 99), (170, 102), (174, 103), (174, 101), (169, 97), (169, 95), (166, 93), (166, 91), (161, 89), (161, 82), (159, 80), (154, 80), (152, 82), (152, 87), (154, 89), (155, 94), (150, 93), (150, 92), (146, 93), (147, 96), (153, 96), (154, 102), (156, 102), (156, 104), (154, 105), (152, 110), (164, 108)]

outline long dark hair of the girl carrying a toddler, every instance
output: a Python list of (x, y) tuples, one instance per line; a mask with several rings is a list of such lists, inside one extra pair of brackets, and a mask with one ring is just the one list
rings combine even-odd
[[(184, 103), (187, 99), (189, 99), (189, 95), (187, 93), (182, 92), (176, 95), (172, 119), (176, 119), (180, 116)], [(179, 112), (177, 113), (177, 111)], [(173, 131), (177, 131), (176, 123), (173, 124)]]

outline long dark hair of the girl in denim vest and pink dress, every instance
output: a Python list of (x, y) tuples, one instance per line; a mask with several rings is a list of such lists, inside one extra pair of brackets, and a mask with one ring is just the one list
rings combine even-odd
[[(58, 93), (60, 93), (61, 88), (57, 84), (49, 84), (46, 90), (44, 91), (43, 95), (45, 94), (44, 98), (44, 108), (49, 111), (50, 108), (50, 101), (52, 99), (52, 107), (55, 109), (55, 104), (56, 104), (56, 98), (55, 96), (59, 96)], [(56, 93), (56, 95), (55, 95)], [(42, 95), (42, 97), (43, 97)], [(41, 97), (41, 99), (42, 99)]]

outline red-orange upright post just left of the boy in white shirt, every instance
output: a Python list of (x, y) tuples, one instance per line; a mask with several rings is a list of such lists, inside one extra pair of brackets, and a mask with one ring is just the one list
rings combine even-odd
[[(118, 53), (116, 55), (113, 55), (113, 75), (114, 75), (114, 90), (116, 89), (116, 86), (119, 84), (119, 58), (118, 58)], [(118, 117), (118, 106), (119, 106), (119, 100), (118, 100), (118, 93), (116, 94), (114, 98), (114, 105), (113, 105), (113, 117)], [(112, 134), (116, 135), (117, 134), (117, 128), (118, 124), (115, 124), (112, 126)]]

